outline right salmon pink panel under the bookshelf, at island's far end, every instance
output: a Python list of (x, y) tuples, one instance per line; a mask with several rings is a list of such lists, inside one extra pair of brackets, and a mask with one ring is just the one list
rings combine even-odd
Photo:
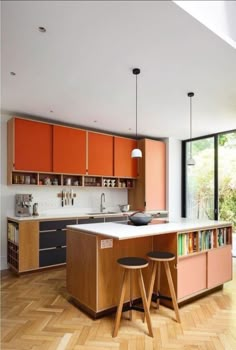
[(232, 246), (227, 245), (208, 251), (208, 288), (216, 287), (232, 279)]

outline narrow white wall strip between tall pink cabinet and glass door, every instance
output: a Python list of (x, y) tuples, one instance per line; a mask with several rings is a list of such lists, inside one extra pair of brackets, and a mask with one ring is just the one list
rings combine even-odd
[(181, 217), (181, 141), (167, 140), (167, 209), (170, 218)]

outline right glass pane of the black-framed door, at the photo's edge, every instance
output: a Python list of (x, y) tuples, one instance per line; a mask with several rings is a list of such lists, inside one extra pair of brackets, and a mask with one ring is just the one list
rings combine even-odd
[(219, 219), (236, 229), (236, 131), (218, 137)]

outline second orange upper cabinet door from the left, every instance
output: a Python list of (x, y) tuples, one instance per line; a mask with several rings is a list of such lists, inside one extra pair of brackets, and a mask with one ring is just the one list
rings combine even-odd
[(53, 125), (53, 171), (86, 173), (86, 131)]

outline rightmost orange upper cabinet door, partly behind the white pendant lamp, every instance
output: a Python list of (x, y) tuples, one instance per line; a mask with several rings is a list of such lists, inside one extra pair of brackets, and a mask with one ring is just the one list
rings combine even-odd
[(114, 176), (137, 177), (137, 159), (131, 158), (137, 141), (114, 136)]

